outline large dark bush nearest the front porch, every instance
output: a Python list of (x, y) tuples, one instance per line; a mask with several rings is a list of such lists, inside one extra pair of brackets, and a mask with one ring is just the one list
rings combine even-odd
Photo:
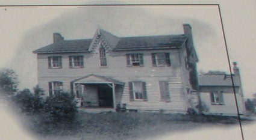
[(48, 113), (51, 121), (72, 123), (76, 118), (77, 112), (73, 99), (69, 93), (58, 93), (47, 97), (44, 110)]

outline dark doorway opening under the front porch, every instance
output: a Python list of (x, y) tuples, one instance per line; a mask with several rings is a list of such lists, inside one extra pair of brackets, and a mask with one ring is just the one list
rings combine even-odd
[(98, 88), (99, 107), (113, 108), (113, 94), (110, 87)]

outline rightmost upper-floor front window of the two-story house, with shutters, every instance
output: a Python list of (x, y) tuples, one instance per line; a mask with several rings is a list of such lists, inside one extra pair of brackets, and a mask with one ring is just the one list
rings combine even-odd
[(170, 66), (170, 54), (169, 53), (152, 53), (152, 64), (157, 66)]

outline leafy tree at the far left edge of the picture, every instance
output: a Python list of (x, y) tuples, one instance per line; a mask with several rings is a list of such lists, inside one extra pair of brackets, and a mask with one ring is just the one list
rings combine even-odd
[(12, 96), (17, 92), (18, 84), (17, 74), (13, 70), (8, 68), (0, 70), (0, 90), (7, 94), (7, 96)]

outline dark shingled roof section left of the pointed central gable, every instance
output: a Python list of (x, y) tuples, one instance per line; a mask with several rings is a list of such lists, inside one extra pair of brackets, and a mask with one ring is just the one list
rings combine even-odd
[(92, 39), (63, 40), (34, 50), (34, 53), (63, 53), (63, 52), (88, 52)]

